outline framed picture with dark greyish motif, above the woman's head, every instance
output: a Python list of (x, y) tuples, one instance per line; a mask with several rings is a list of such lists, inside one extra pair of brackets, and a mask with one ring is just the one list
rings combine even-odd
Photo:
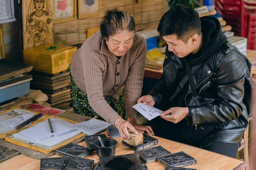
[(78, 0), (78, 18), (100, 14), (101, 0)]

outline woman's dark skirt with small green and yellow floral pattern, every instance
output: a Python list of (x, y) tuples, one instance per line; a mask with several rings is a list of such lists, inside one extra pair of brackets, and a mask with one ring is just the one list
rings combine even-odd
[[(70, 64), (68, 66), (67, 71), (70, 73)], [(71, 94), (71, 103), (73, 106), (73, 112), (81, 115), (89, 116), (89, 117), (100, 117), (90, 106), (87, 94), (84, 93), (81, 89), (79, 89), (74, 82), (71, 73), (69, 75), (70, 78), (70, 94)], [(123, 116), (123, 108), (124, 108), (124, 91), (122, 92), (119, 100), (117, 101), (111, 96), (105, 97), (107, 103), (116, 111), (121, 117)]]

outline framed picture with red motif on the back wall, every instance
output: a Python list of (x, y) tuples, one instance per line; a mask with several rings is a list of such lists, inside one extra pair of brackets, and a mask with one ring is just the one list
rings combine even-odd
[(53, 23), (76, 19), (76, 0), (54, 0)]

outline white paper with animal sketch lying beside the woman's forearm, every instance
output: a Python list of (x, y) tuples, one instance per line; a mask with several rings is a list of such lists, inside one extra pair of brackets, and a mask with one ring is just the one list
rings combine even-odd
[(92, 135), (107, 128), (109, 125), (111, 124), (92, 118), (91, 120), (81, 122), (73, 126), (79, 128), (81, 132), (84, 132), (87, 135)]

